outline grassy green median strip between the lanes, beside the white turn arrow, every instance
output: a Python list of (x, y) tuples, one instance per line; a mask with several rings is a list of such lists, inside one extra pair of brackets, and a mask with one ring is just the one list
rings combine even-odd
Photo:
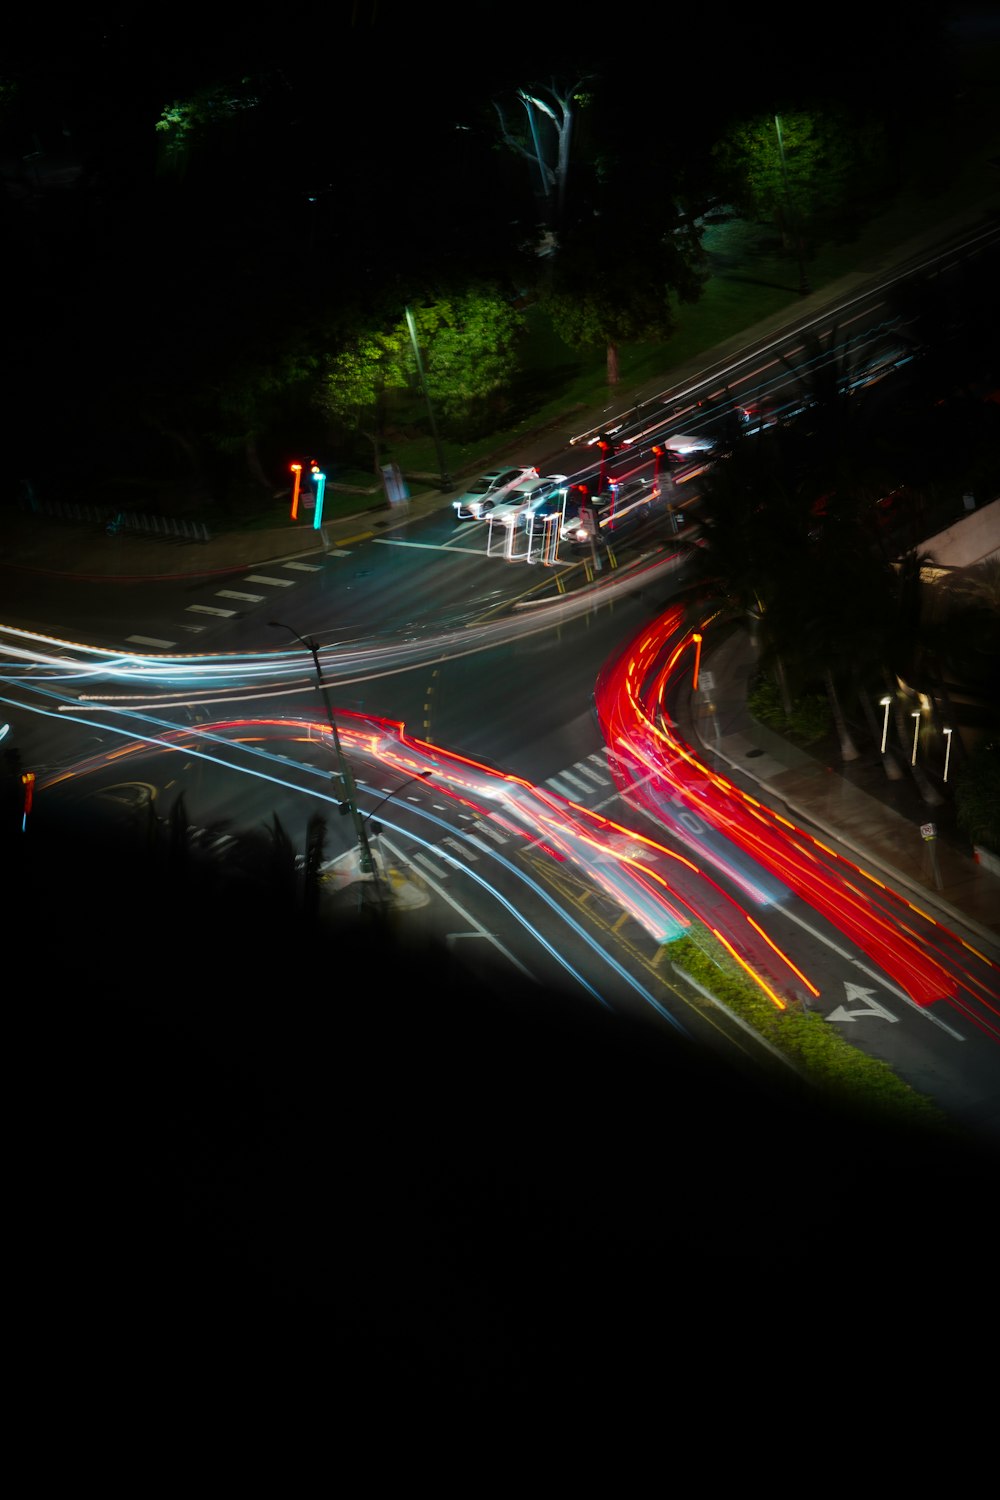
[(886, 1064), (852, 1047), (816, 1011), (804, 1011), (796, 1002), (780, 1010), (700, 924), (694, 938), (676, 939), (669, 952), (676, 968), (753, 1026), (832, 1101), (906, 1125), (948, 1128), (931, 1100)]

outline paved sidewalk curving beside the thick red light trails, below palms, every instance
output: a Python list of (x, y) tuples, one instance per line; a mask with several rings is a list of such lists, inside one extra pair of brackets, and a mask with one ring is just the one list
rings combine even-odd
[[(817, 832), (847, 860), (880, 872), (913, 904), (1000, 960), (1000, 876), (946, 838), (931, 846), (921, 826), (939, 812), (924, 804), (912, 778), (891, 783), (880, 770), (870, 786), (852, 784), (813, 756), (757, 724), (747, 708), (756, 657), (750, 633), (738, 630), (702, 654), (700, 686), (691, 694), (691, 729), (724, 776), (754, 783), (768, 807)], [(909, 806), (898, 812), (892, 801)]]

